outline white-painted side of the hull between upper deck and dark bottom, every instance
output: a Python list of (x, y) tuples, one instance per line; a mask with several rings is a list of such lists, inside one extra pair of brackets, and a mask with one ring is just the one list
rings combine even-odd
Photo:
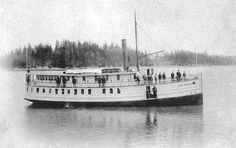
[[(136, 86), (122, 86), (122, 87), (90, 87), (90, 88), (56, 88), (56, 87), (30, 87), (26, 90), (25, 99), (34, 101), (49, 101), (49, 102), (135, 102), (135, 101), (147, 101), (147, 100), (163, 100), (168, 98), (181, 98), (185, 96), (194, 96), (202, 94), (201, 79), (181, 81), (175, 83), (161, 83), (153, 85), (136, 85)], [(146, 87), (151, 88), (155, 86), (157, 88), (157, 96), (155, 98), (147, 98)], [(36, 89), (39, 89), (39, 93)], [(117, 93), (117, 88), (121, 93)], [(44, 93), (42, 93), (44, 89)], [(51, 93), (49, 93), (51, 89)], [(58, 89), (58, 94), (55, 94), (55, 89)], [(62, 94), (64, 89), (64, 94)], [(77, 89), (77, 94), (74, 94), (74, 89)], [(84, 89), (84, 94), (81, 94), (81, 89)], [(91, 89), (91, 94), (88, 94), (88, 89)], [(106, 89), (106, 93), (103, 94), (102, 90)], [(109, 90), (113, 89), (113, 93)], [(32, 91), (31, 91), (32, 90)], [(70, 90), (70, 94), (68, 94)]]

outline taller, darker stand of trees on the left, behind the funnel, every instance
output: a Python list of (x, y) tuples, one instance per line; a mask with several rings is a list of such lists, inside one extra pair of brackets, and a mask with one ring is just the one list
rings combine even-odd
[[(142, 52), (138, 54), (144, 55)], [(28, 59), (26, 55), (28, 55)], [(54, 48), (49, 44), (42, 43), (34, 47), (28, 44), (23, 48), (17, 48), (2, 57), (1, 63), (8, 68), (26, 68), (26, 60), (31, 68), (117, 67), (123, 65), (122, 58), (122, 49), (117, 44), (107, 45), (104, 43), (99, 46), (92, 42), (63, 40), (56, 41)], [(127, 66), (135, 66), (136, 64), (136, 53), (129, 48), (126, 49), (126, 63)], [(140, 62), (143, 66), (151, 63), (149, 58)]]

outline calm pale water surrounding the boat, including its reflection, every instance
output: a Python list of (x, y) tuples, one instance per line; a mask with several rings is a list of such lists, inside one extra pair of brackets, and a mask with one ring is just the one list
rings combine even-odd
[(36, 109), (25, 73), (2, 70), (1, 147), (236, 147), (236, 66), (185, 70), (203, 73), (203, 106)]

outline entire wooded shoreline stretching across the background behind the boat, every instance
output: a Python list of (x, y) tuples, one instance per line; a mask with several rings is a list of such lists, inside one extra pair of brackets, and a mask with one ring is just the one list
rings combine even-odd
[[(26, 68), (28, 60), (30, 68), (72, 68), (72, 67), (117, 67), (123, 65), (122, 49), (117, 44), (99, 46), (92, 42), (56, 41), (54, 47), (49, 44), (30, 44), (17, 48), (1, 57), (1, 65), (5, 68)], [(144, 56), (144, 52), (139, 52)], [(28, 55), (28, 56), (26, 56)], [(150, 65), (231, 65), (236, 64), (235, 56), (208, 55), (191, 51), (176, 50), (161, 55), (139, 59), (141, 66)], [(135, 66), (136, 54), (133, 49), (126, 49), (126, 63)]]

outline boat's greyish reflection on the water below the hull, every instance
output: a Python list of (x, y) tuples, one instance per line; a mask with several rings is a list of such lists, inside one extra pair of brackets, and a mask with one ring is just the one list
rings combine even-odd
[[(202, 106), (25, 109), (26, 136), (60, 146), (194, 146), (203, 131)], [(188, 135), (188, 136), (186, 136)], [(115, 139), (115, 140), (114, 140)], [(187, 143), (186, 143), (187, 141)], [(104, 145), (105, 144), (105, 145)], [(190, 144), (190, 145), (189, 145)]]

